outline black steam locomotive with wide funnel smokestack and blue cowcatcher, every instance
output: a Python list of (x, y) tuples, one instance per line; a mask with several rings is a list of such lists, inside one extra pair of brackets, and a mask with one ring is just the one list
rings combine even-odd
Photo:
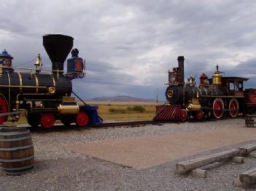
[[(57, 119), (66, 126), (102, 123), (98, 107), (89, 106), (82, 99), (79, 105), (75, 97), (71, 97), (72, 93), (77, 96), (72, 92), (71, 80), (85, 77), (79, 51), (71, 51), (73, 40), (71, 36), (60, 34), (43, 36), (52, 70), (42, 70), (40, 55), (35, 68), (13, 68), (12, 57), (5, 50), (0, 54), (0, 124), (7, 120), (18, 121), (20, 113), (26, 113), (29, 125), (34, 127), (41, 124), (52, 128)], [(63, 62), (70, 51), (72, 57), (67, 60), (67, 73), (64, 73)]]

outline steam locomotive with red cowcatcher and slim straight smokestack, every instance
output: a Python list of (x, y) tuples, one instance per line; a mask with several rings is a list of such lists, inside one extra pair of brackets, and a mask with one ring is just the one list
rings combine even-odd
[(248, 78), (224, 77), (217, 70), (212, 78), (201, 74), (200, 84), (195, 78), (184, 80), (184, 60), (178, 57), (179, 67), (168, 71), (166, 104), (156, 106), (155, 121), (186, 121), (188, 118), (202, 120), (207, 117), (235, 118), (239, 114), (256, 111), (256, 89), (244, 89)]

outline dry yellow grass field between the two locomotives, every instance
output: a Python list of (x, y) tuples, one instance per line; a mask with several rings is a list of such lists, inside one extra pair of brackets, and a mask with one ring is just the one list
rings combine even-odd
[[(98, 114), (104, 121), (147, 121), (152, 120), (155, 116), (155, 102), (87, 103), (89, 105), (98, 105)], [(144, 110), (141, 108), (144, 108)]]

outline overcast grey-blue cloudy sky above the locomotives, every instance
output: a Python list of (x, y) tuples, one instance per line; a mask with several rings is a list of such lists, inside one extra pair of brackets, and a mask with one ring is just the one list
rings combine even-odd
[[(42, 54), (42, 36), (74, 37), (86, 78), (74, 80), (83, 99), (130, 95), (165, 100), (168, 69), (185, 57), (185, 78), (251, 78), (256, 86), (256, 1), (1, 0), (0, 49), (20, 65)], [(70, 56), (70, 55), (69, 55)], [(26, 64), (23, 66), (31, 66)], [(65, 64), (66, 65), (66, 64)]]

